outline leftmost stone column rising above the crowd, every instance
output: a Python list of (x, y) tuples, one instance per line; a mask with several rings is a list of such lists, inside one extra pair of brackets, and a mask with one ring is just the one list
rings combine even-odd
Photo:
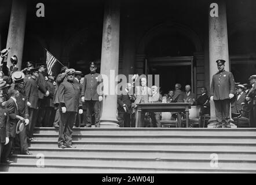
[(19, 69), (21, 69), (23, 55), (26, 15), (27, 1), (13, 0), (6, 43), (6, 48), (10, 47), (7, 61), (8, 66), (10, 66), (10, 57), (16, 55), (18, 57), (17, 66)]

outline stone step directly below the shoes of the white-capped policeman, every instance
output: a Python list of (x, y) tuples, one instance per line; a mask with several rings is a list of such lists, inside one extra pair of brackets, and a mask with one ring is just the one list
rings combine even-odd
[[(173, 150), (154, 150), (154, 149), (59, 149), (57, 147), (30, 147), (30, 151), (35, 156), (37, 154), (44, 156), (82, 156), (82, 157), (198, 157), (198, 158), (211, 158), (211, 154), (217, 154), (220, 159), (227, 158), (240, 158), (240, 159), (255, 159), (255, 150), (186, 150), (186, 149), (173, 149)], [(19, 153), (19, 150), (17, 150)]]

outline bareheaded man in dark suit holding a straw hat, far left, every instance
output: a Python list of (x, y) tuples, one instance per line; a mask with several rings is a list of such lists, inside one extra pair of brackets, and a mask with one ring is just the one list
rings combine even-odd
[(25, 119), (21, 116), (19, 116), (18, 112), (18, 105), (17, 105), (17, 97), (19, 97), (19, 91), (12, 90), (10, 92), (10, 99), (6, 102), (6, 109), (9, 113), (9, 124), (10, 124), (10, 137), (9, 137), (9, 143), (5, 145), (3, 148), (3, 154), (1, 158), (1, 162), (3, 163), (10, 163), (9, 161), (9, 155), (10, 151), (13, 147), (13, 141), (16, 135), (16, 124), (19, 120), (25, 121)]

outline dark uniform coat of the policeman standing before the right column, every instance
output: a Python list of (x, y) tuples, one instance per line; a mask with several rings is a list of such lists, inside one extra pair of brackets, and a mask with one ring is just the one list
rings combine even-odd
[(217, 72), (211, 81), (210, 96), (214, 100), (229, 99), (229, 94), (235, 94), (235, 80), (229, 71)]

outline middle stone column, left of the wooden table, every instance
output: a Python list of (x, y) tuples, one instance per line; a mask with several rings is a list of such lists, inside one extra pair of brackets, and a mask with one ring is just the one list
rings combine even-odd
[[(101, 49), (101, 75), (108, 77), (108, 94), (103, 96), (103, 113), (100, 127), (119, 127), (116, 119), (117, 94), (113, 94), (119, 64), (119, 29), (120, 29), (120, 1), (105, 1), (103, 20), (103, 40)], [(114, 74), (111, 74), (114, 72)], [(104, 87), (105, 88), (105, 87)]]

